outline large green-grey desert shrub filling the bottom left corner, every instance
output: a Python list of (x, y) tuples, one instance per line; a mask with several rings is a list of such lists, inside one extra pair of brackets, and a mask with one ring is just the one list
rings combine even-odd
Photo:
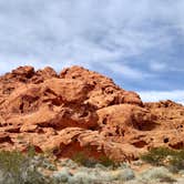
[(40, 163), (34, 161), (32, 147), (28, 154), (18, 151), (0, 152), (0, 184), (43, 184), (47, 178), (38, 171)]

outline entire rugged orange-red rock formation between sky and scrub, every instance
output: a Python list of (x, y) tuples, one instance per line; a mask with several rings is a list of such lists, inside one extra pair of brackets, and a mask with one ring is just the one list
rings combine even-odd
[(134, 160), (153, 146), (184, 147), (184, 106), (143, 103), (96, 72), (81, 67), (35, 71), (20, 67), (0, 76), (0, 150), (72, 157), (76, 152)]

